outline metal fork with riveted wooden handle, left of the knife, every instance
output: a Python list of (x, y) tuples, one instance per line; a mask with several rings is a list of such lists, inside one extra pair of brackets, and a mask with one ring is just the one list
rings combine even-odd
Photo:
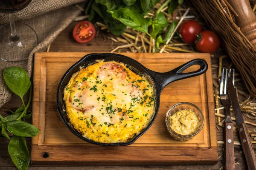
[[(234, 156), (234, 141), (233, 141), (233, 122), (230, 115), (230, 106), (231, 102), (227, 92), (227, 80), (230, 76), (230, 72), (227, 68), (222, 69), (221, 74), (221, 84), (220, 84), (220, 97), (221, 102), (224, 105), (226, 110), (226, 119), (225, 119), (225, 169), (234, 170), (235, 169), (235, 156)], [(225, 78), (224, 78), (225, 73)], [(234, 82), (234, 71), (233, 71), (233, 82)], [(224, 80), (225, 79), (225, 80)], [(224, 81), (224, 87), (223, 87)]]

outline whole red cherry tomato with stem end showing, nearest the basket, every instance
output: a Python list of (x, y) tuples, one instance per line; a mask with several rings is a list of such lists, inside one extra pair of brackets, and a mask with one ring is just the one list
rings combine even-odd
[(214, 53), (220, 47), (220, 40), (214, 32), (202, 31), (197, 34), (195, 45), (202, 53)]

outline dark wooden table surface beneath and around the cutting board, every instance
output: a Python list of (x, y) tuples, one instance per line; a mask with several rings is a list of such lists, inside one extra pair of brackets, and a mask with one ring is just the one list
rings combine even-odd
[[(99, 32), (97, 37), (87, 43), (87, 44), (79, 44), (72, 37), (72, 31), (77, 22), (70, 24), (64, 31), (62, 31), (58, 37), (52, 42), (49, 51), (50, 52), (110, 52), (117, 45), (123, 45), (122, 42), (113, 42), (108, 39), (108, 37), (114, 37), (113, 35), (104, 32)], [(127, 49), (122, 49), (122, 52), (128, 51)], [(212, 63), (218, 63), (217, 58), (212, 58)], [(27, 98), (27, 96), (26, 96)], [(9, 114), (9, 110), (15, 111), (18, 107), (20, 107), (21, 101), (18, 97), (14, 97), (11, 101), (6, 103), (1, 109), (0, 113), (3, 116)], [(32, 110), (32, 106), (30, 111)], [(249, 120), (248, 120), (249, 121)], [(217, 118), (216, 118), (217, 122)], [(252, 121), (251, 121), (252, 122)], [(248, 129), (252, 130), (255, 127), (248, 125)], [(217, 130), (217, 129), (216, 129)], [(217, 130), (217, 140), (223, 141), (223, 128), (219, 127)], [(238, 141), (238, 134), (234, 133), (235, 141)], [(30, 148), (31, 139), (26, 139), (28, 148)], [(17, 169), (15, 165), (12, 163), (11, 158), (9, 157), (7, 147), (8, 147), (9, 139), (0, 136), (0, 170), (15, 170)], [(29, 170), (141, 170), (141, 169), (150, 169), (150, 170), (218, 170), (223, 167), (223, 146), (219, 145), (218, 147), (218, 155), (219, 161), (215, 165), (173, 165), (173, 166), (34, 166), (30, 165)], [(239, 161), (239, 164), (236, 165), (236, 170), (246, 170), (246, 161), (244, 159), (244, 154), (241, 150), (240, 146), (235, 145), (235, 157), (236, 161)], [(185, 162), (184, 162), (185, 164)]]

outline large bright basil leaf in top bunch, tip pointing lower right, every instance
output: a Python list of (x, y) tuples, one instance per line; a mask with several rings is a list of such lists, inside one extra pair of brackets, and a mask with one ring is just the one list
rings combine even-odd
[(147, 20), (139, 13), (127, 8), (119, 8), (116, 11), (108, 11), (112, 17), (119, 20), (121, 23), (129, 26), (137, 31), (148, 34)]

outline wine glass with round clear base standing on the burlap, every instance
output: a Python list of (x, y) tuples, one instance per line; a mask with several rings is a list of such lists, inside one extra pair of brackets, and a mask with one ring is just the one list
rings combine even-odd
[[(28, 6), (30, 2), (31, 0), (0, 0), (0, 12), (9, 14), (10, 21), (9, 24), (0, 26), (0, 59), (3, 61), (24, 61), (38, 45), (35, 31), (25, 24), (17, 23), (15, 26), (14, 21), (14, 13)], [(17, 55), (26, 58), (17, 59)]]

